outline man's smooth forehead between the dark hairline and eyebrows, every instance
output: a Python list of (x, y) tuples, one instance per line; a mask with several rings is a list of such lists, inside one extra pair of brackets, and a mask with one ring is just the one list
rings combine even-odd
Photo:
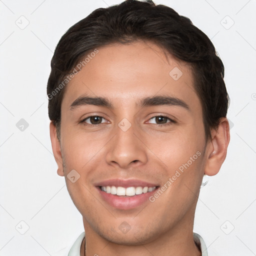
[(138, 98), (157, 94), (199, 104), (189, 64), (166, 54), (160, 46), (136, 41), (97, 50), (84, 56), (86, 64), (67, 84), (63, 106), (83, 94), (108, 97), (119, 104), (136, 104)]

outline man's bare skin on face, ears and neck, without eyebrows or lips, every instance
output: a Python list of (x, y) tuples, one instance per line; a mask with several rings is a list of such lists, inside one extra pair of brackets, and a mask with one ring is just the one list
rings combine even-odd
[[(60, 140), (50, 123), (57, 173), (65, 177), (83, 217), (86, 237), (81, 255), (84, 242), (86, 256), (201, 255), (192, 236), (195, 206), (203, 174), (216, 174), (225, 159), (227, 119), (221, 118), (205, 140), (190, 66), (156, 44), (116, 43), (98, 50), (65, 88)], [(178, 80), (169, 75), (174, 67), (182, 71)], [(87, 104), (70, 109), (84, 95), (105, 97), (113, 107)], [(139, 106), (141, 98), (155, 95), (181, 99), (189, 110), (178, 105)], [(100, 124), (84, 120), (92, 114), (103, 117)], [(175, 122), (168, 118), (159, 122), (155, 116), (161, 115)], [(127, 131), (118, 126), (123, 118), (131, 124)], [(162, 186), (197, 151), (200, 156), (154, 202), (134, 209), (110, 206), (94, 186), (110, 178), (136, 178)], [(72, 169), (80, 175), (74, 183), (67, 178)], [(123, 221), (130, 226), (126, 233), (118, 228)]]

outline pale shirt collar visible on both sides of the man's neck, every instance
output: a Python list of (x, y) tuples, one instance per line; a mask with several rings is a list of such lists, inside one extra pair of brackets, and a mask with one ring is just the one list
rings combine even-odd
[[(80, 247), (84, 237), (85, 237), (85, 232), (82, 232), (78, 236), (78, 238), (75, 240), (67, 256), (80, 256)], [(195, 244), (201, 249), (202, 256), (208, 256), (207, 247), (202, 237), (197, 233), (193, 233), (193, 238), (194, 238)]]

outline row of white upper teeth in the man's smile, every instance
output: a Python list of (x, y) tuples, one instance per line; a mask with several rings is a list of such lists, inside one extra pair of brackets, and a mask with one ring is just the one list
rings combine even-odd
[(115, 195), (120, 195), (120, 196), (134, 196), (135, 194), (142, 194), (142, 193), (147, 193), (155, 190), (155, 186), (153, 187), (147, 187), (147, 186), (129, 186), (127, 188), (122, 187), (122, 186), (101, 186), (100, 189), (106, 193), (111, 193)]

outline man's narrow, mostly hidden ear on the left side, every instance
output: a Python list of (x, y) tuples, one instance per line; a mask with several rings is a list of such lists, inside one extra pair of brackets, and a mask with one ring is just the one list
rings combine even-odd
[(57, 174), (59, 176), (64, 176), (60, 141), (57, 138), (56, 126), (54, 125), (54, 123), (52, 121), (50, 122), (50, 141), (51, 141), (53, 155), (54, 155), (55, 161), (58, 165)]

